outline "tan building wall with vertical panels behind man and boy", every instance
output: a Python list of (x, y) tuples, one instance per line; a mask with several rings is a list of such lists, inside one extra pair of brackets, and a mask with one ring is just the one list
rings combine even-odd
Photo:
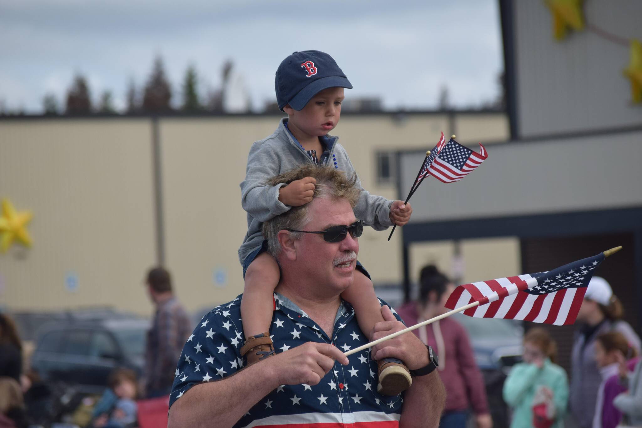
[[(452, 132), (451, 123), (462, 142), (508, 139), (503, 114), (457, 114), (452, 119), (447, 114), (344, 115), (333, 133), (340, 135), (364, 187), (392, 199), (394, 185), (377, 185), (377, 151), (431, 148), (441, 130)], [(270, 135), (278, 120), (159, 120), (166, 266), (189, 310), (226, 302), (243, 291), (237, 250), (247, 223), (239, 183), (250, 145)], [(18, 210), (33, 210), (28, 228), (35, 244), (0, 255), (1, 304), (17, 309), (100, 304), (151, 312), (139, 287), (156, 260), (150, 119), (1, 121), (3, 196)], [(390, 242), (387, 237), (367, 228), (360, 260), (376, 284), (399, 284), (401, 234), (395, 232)], [(413, 246), (412, 260), (424, 260), (422, 251), (434, 252), (434, 246)], [(467, 272), (476, 269), (474, 262), (466, 266)], [(76, 274), (77, 291), (67, 290), (67, 272)]]

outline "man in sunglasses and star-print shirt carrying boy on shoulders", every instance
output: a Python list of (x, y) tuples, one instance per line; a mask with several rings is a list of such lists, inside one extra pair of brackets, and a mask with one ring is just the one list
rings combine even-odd
[[(352, 212), (359, 191), (354, 178), (313, 165), (271, 184), (305, 176), (317, 181), (313, 200), (263, 229), (281, 266), (270, 329), (277, 354), (240, 370), (241, 296), (214, 308), (189, 336), (178, 362), (169, 427), (437, 427), (444, 387), (436, 371), (422, 375), (434, 364), (419, 338), (403, 334), (371, 352), (343, 355), (367, 343), (351, 305), (340, 298), (352, 284), (359, 251), (362, 225)], [(404, 329), (388, 307), (381, 314), (386, 321), (375, 325), (376, 338)], [(376, 360), (386, 357), (403, 359), (417, 375), (401, 397), (376, 391)]]

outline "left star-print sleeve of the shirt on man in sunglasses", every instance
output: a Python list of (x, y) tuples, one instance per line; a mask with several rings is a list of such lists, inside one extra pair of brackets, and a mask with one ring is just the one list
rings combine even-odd
[[(213, 310), (201, 320), (180, 354), (169, 406), (196, 384), (228, 377), (243, 366), (239, 349), (243, 326), (226, 312)], [(237, 317), (238, 318), (238, 317)]]

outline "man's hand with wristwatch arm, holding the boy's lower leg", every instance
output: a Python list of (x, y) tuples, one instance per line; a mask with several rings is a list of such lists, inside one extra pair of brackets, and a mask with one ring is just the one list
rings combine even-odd
[[(372, 340), (381, 339), (388, 334), (398, 332), (406, 328), (401, 321), (392, 314), (387, 306), (381, 307), (381, 315), (385, 321), (376, 323), (372, 329)], [(377, 361), (382, 358), (398, 358), (406, 364), (410, 370), (428, 365), (428, 351), (422, 341), (412, 332), (407, 332), (393, 339), (379, 343), (372, 347), (372, 357)]]

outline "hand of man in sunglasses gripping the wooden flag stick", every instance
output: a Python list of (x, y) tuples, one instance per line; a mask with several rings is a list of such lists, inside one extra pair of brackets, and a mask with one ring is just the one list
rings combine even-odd
[(273, 377), (279, 385), (316, 385), (334, 367), (334, 361), (344, 366), (348, 357), (329, 343), (308, 342), (281, 354), (274, 355), (263, 363), (270, 363)]

